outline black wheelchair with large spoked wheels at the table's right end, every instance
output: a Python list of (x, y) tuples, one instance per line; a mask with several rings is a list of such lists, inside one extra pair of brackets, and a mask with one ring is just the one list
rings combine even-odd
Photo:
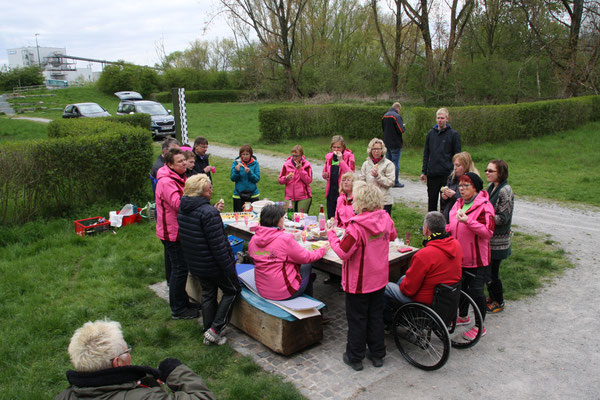
[[(457, 326), (457, 315), (469, 319)], [(477, 327), (473, 339), (463, 333)], [(437, 285), (433, 304), (407, 303), (398, 308), (392, 321), (396, 347), (417, 368), (433, 371), (446, 364), (450, 346), (467, 349), (474, 346), (483, 332), (483, 318), (475, 301), (461, 290), (460, 281), (453, 286)]]

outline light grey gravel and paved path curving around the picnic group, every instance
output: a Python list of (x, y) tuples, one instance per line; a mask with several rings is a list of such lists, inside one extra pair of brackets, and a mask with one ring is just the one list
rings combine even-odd
[[(236, 149), (210, 145), (214, 156), (233, 159)], [(257, 154), (261, 168), (279, 171), (283, 159)], [(311, 162), (312, 163), (312, 162)], [(313, 164), (315, 172), (322, 165)], [(320, 179), (320, 173), (315, 173)], [(392, 189), (397, 203), (426, 202), (426, 187), (404, 179)], [(498, 315), (488, 316), (487, 336), (473, 349), (452, 349), (446, 366), (425, 372), (400, 356), (387, 338), (383, 368), (354, 372), (342, 363), (346, 321), (343, 293), (323, 285), (315, 295), (330, 309), (332, 323), (324, 339), (291, 357), (278, 356), (234, 328), (231, 346), (261, 367), (282, 375), (310, 399), (598, 399), (600, 398), (600, 210), (567, 208), (551, 202), (517, 198), (514, 229), (548, 234), (568, 252), (575, 268), (550, 282), (533, 298), (507, 302)], [(161, 284), (156, 285), (160, 291)], [(166, 286), (163, 285), (163, 295)]]

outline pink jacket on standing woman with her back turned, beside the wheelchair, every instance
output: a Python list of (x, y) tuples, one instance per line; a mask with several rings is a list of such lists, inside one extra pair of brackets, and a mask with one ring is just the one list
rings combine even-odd
[(342, 287), (347, 293), (372, 293), (388, 283), (390, 242), (396, 229), (384, 210), (363, 211), (352, 217), (340, 239), (327, 232), (331, 248), (344, 261)]

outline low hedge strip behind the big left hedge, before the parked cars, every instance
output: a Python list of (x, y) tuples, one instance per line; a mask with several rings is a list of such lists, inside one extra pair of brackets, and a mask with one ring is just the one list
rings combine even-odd
[(48, 124), (48, 137), (61, 138), (105, 133), (116, 129), (114, 122), (125, 124), (125, 130), (132, 129), (133, 127), (144, 128), (150, 137), (148, 130), (152, 126), (152, 119), (148, 114), (117, 115), (102, 118), (57, 119)]

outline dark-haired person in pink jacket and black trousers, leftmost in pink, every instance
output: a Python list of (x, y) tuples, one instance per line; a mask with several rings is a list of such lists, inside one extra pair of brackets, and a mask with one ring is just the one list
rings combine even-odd
[(179, 242), (179, 224), (177, 212), (185, 187), (185, 156), (179, 148), (173, 148), (165, 154), (163, 165), (156, 177), (156, 236), (165, 248), (165, 272), (169, 285), (169, 305), (173, 319), (190, 319), (199, 316), (198, 309), (192, 308), (185, 291), (188, 268), (183, 259)]

